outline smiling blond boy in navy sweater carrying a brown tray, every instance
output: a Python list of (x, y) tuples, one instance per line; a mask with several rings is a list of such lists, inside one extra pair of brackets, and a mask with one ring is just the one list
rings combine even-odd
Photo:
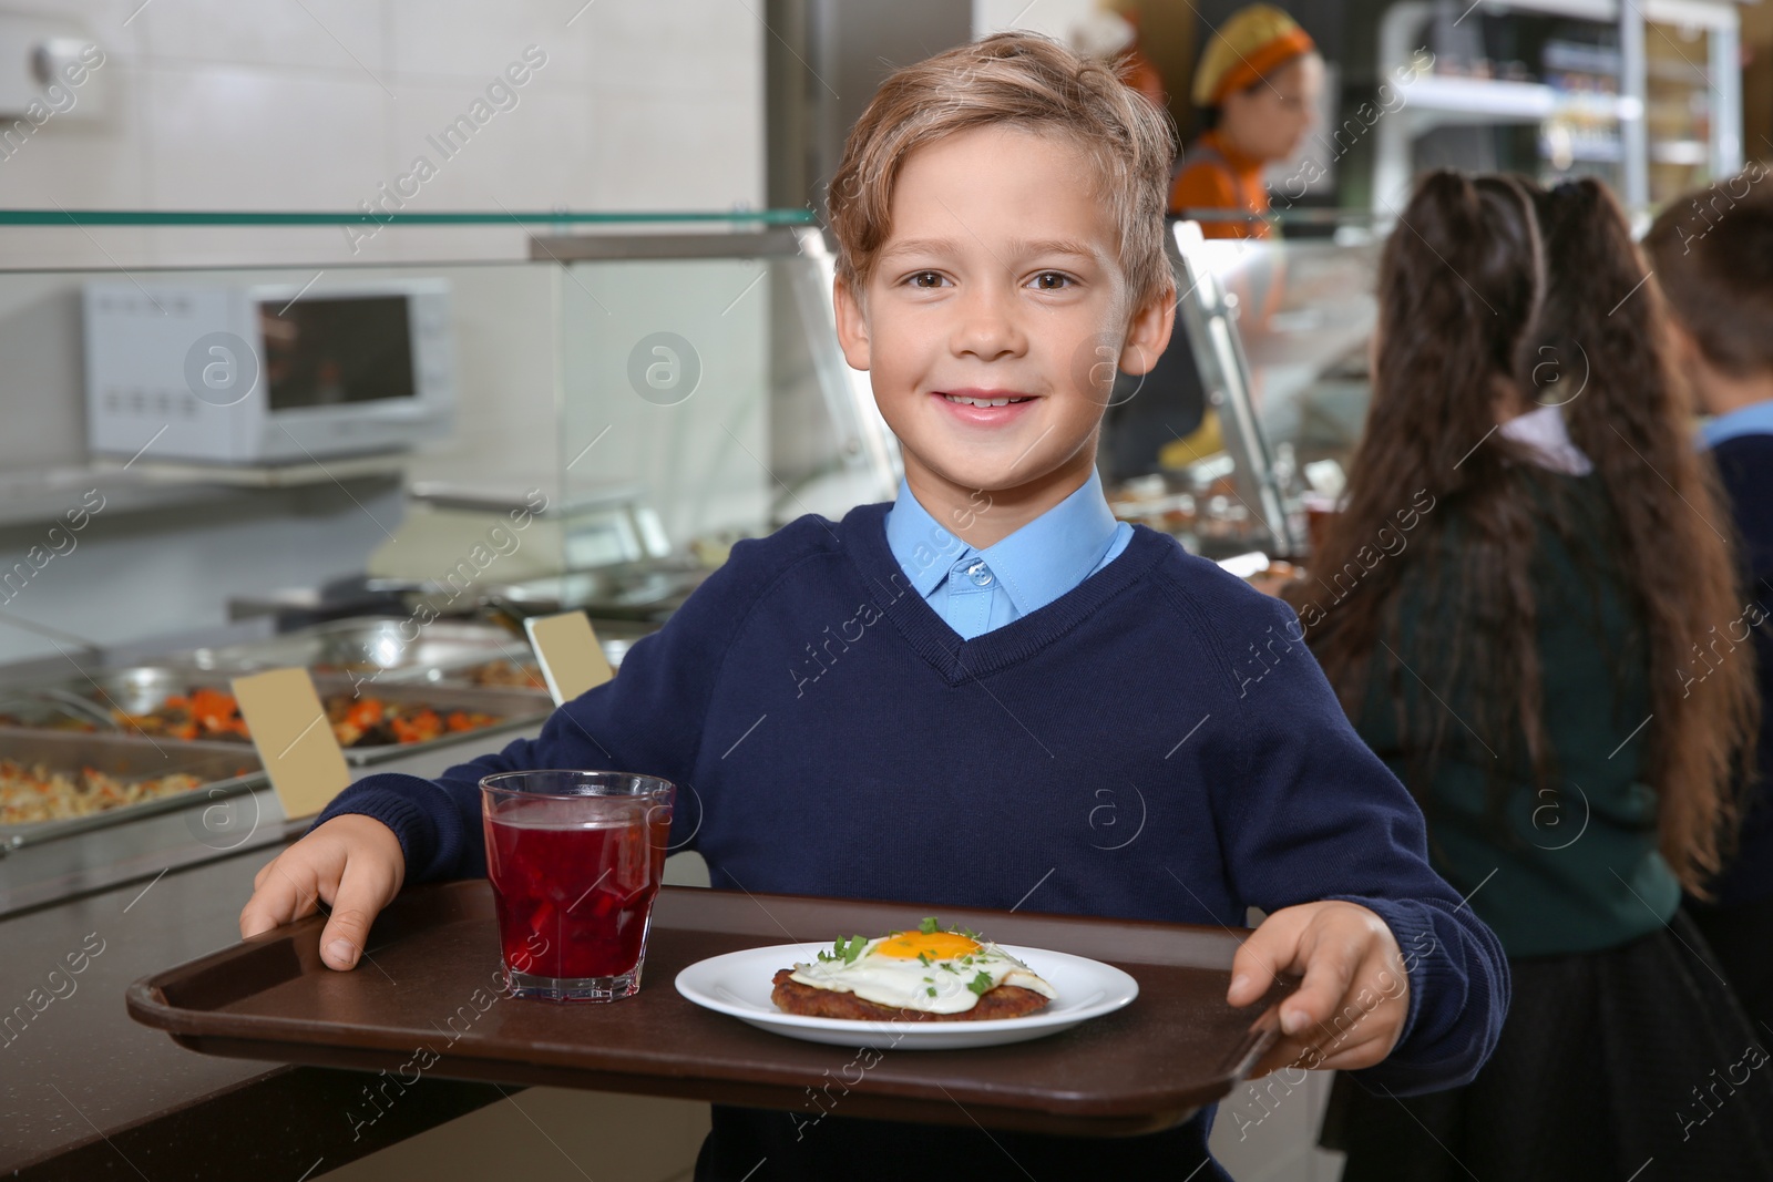
[[(1172, 326), (1170, 152), (1156, 108), (1043, 37), (888, 78), (830, 213), (839, 335), (902, 443), (899, 500), (741, 542), (539, 739), (436, 785), (362, 780), (261, 872), (241, 932), (319, 895), (349, 968), (404, 877), (484, 872), (480, 776), (622, 767), (693, 789), (674, 842), (716, 888), (1222, 925), (1259, 906), (1230, 1003), (1305, 976), (1266, 1069), (1390, 1056), (1371, 1079), (1394, 1092), (1468, 1079), (1507, 968), (1429, 870), (1415, 803), (1291, 611), (1117, 525), (1094, 473), (1103, 360), (1142, 372)], [(1085, 1141), (715, 1106), (697, 1177), (1005, 1154), (1030, 1177), (1223, 1177), (1202, 1173), (1209, 1120)]]

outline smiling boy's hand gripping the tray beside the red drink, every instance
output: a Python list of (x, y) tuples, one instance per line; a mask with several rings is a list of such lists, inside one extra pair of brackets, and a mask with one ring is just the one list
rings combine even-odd
[(369, 943), (376, 913), (399, 893), (406, 856), (394, 829), (374, 817), (340, 813), (264, 863), (239, 913), (241, 937), (269, 932), (330, 907), (321, 960), (349, 969)]

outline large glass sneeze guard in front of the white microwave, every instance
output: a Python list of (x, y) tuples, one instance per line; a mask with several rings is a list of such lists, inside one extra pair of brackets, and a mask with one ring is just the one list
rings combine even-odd
[[(184, 659), (225, 688), (227, 670), (190, 657), (232, 643), (220, 633), (238, 604), (305, 610), (351, 572), (420, 620), (468, 618), (495, 601), (519, 613), (594, 603), (610, 613), (606, 652), (612, 638), (628, 643), (658, 627), (734, 539), (894, 494), (897, 448), (867, 374), (837, 349), (832, 268), (803, 209), (0, 211), (0, 392), (12, 425), (0, 432), (0, 555), (25, 562), (30, 546), (83, 530), (53, 565), (7, 585), (0, 679), (9, 693), (78, 693), (89, 673), (105, 684), (117, 661)], [(291, 353), (287, 340), (266, 347), (273, 321), (294, 333), (303, 307), (402, 285), (447, 294), (452, 408), (440, 438), (317, 450), (303, 436), (309, 454), (277, 463), (167, 450), (177, 434), (168, 424), (200, 415), (227, 425), (268, 406), (266, 386)], [(149, 305), (138, 308), (145, 335), (119, 356), (160, 358), (140, 379), (96, 393), (92, 287)], [(262, 303), (271, 292), (277, 307)], [(156, 299), (165, 319), (147, 315)], [(197, 331), (211, 305), (246, 308), (229, 321), (248, 328), (225, 358)], [(427, 307), (408, 314), (424, 319)], [(363, 321), (340, 340), (390, 337), (388, 323)], [(321, 363), (307, 383), (314, 397), (273, 429), (349, 402), (324, 393), (349, 388), (353, 367), (337, 360), (339, 372)], [(424, 363), (413, 354), (415, 372)], [(216, 367), (264, 381), (218, 399), (193, 377)], [(89, 397), (135, 434), (96, 450)], [(401, 599), (401, 588), (417, 597)], [(521, 656), (519, 638), (509, 647)], [(92, 711), (94, 750), (129, 743), (105, 730), (103, 702)], [(177, 812), (211, 801), (193, 792), (190, 803)], [(113, 831), (135, 815), (78, 828), (103, 820)], [(43, 847), (51, 838), (41, 833), (14, 836)]]

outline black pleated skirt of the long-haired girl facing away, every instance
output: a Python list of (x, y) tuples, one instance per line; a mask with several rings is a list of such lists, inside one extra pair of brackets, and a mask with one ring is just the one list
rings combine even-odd
[(1502, 1038), (1463, 1088), (1337, 1076), (1342, 1182), (1773, 1178), (1773, 1061), (1684, 913), (1619, 948), (1511, 959)]

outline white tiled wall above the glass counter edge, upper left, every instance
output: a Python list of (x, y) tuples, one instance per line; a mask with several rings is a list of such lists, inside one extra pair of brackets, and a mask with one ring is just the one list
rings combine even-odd
[[(0, 207), (355, 209), (410, 174), (411, 211), (730, 209), (762, 204), (761, 5), (736, 0), (0, 0), (105, 51), (67, 113), (0, 159)], [(528, 46), (514, 105), (445, 159), (427, 136)], [(87, 103), (87, 99), (90, 99)], [(99, 110), (103, 108), (103, 110)], [(11, 121), (0, 122), (11, 126)], [(344, 241), (342, 234), (337, 234)], [(273, 243), (273, 239), (277, 239)], [(268, 262), (300, 236), (261, 230)], [(7, 264), (223, 261), (238, 236), (55, 230)], [(367, 261), (417, 250), (385, 234)], [(456, 239), (447, 239), (456, 241)], [(509, 236), (507, 239), (509, 241)], [(53, 250), (51, 250), (53, 248)], [(379, 252), (379, 257), (376, 257)], [(206, 257), (200, 257), (206, 255)], [(312, 252), (284, 250), (296, 261)]]

